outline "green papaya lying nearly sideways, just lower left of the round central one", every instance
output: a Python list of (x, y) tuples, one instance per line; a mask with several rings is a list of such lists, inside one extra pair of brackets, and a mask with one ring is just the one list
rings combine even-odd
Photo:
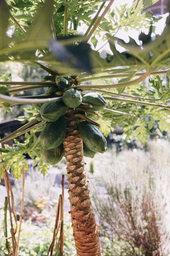
[(47, 102), (42, 104), (40, 108), (41, 117), (49, 122), (57, 121), (67, 111), (68, 107), (62, 101)]

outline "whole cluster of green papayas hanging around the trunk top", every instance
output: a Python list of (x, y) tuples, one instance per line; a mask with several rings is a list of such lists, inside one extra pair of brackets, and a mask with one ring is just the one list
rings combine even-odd
[[(60, 97), (59, 101), (34, 105), (40, 110), (36, 119), (46, 121), (40, 134), (42, 160), (48, 164), (57, 164), (64, 155), (63, 141), (66, 137), (67, 121), (65, 115), (69, 109), (73, 110), (77, 121), (78, 131), (83, 140), (84, 155), (93, 158), (96, 152), (106, 151), (106, 139), (102, 132), (94, 125), (95, 121), (86, 117), (86, 112), (99, 111), (106, 102), (101, 94), (90, 92), (87, 94), (70, 87), (67, 79), (57, 78), (56, 87), (50, 87), (48, 94)], [(67, 89), (68, 88), (68, 89)], [(89, 108), (91, 106), (91, 108)], [(97, 124), (97, 123), (96, 123)]]

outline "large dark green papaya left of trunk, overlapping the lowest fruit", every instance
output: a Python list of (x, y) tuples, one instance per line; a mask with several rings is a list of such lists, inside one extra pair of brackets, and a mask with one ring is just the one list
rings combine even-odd
[(66, 137), (66, 126), (67, 122), (64, 117), (60, 117), (55, 122), (47, 123), (40, 134), (42, 147), (52, 149), (60, 146)]

